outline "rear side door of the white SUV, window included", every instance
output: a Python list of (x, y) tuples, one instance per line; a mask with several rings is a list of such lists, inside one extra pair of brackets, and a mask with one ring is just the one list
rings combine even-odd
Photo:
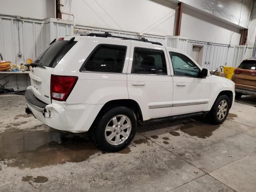
[(173, 82), (164, 46), (132, 42), (127, 88), (129, 98), (140, 105), (143, 120), (170, 115)]

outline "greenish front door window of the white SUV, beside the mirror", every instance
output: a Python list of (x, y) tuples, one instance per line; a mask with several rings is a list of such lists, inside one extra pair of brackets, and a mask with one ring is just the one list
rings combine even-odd
[(199, 73), (199, 68), (192, 62), (187, 56), (170, 52), (170, 57), (172, 60), (172, 68), (175, 76), (189, 76), (197, 77)]

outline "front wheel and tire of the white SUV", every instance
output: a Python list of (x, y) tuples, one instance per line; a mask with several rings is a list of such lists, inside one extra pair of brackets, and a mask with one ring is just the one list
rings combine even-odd
[[(226, 103), (226, 106), (223, 107), (225, 105), (225, 103)], [(229, 100), (228, 96), (220, 95), (214, 102), (210, 112), (208, 114), (206, 114), (206, 119), (211, 124), (215, 124), (215, 125), (222, 124), (228, 116), (229, 109), (230, 109), (230, 100)], [(224, 116), (223, 116), (222, 112), (223, 112)]]

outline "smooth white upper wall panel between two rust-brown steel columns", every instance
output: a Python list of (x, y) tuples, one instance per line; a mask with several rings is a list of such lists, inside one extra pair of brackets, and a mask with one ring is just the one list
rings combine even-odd
[[(94, 0), (62, 0), (61, 2), (64, 4), (62, 10), (74, 13), (76, 23), (79, 25), (158, 35), (173, 34), (175, 9), (178, 7), (178, 1), (173, 3), (166, 0), (97, 0), (98, 3)], [(62, 18), (73, 19), (68, 15), (63, 15)]]

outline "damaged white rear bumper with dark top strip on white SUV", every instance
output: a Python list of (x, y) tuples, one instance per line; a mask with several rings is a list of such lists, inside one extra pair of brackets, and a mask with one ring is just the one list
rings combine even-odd
[(58, 130), (74, 133), (89, 130), (103, 105), (66, 104), (52, 100), (46, 104), (38, 100), (32, 90), (26, 90), (26, 104), (40, 122)]

